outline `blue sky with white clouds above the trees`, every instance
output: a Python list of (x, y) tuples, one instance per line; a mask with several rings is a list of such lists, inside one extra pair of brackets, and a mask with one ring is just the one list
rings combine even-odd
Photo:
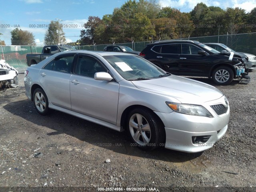
[[(82, 26), (89, 16), (102, 18), (112, 14), (114, 8), (120, 8), (127, 0), (1, 0), (0, 40), (11, 45), (10, 32), (14, 28), (28, 30), (35, 36), (37, 45), (43, 45), (47, 24), (51, 20), (59, 22), (67, 42), (76, 42)], [(256, 7), (256, 0), (159, 0), (162, 7), (170, 6), (181, 12), (190, 12), (197, 3), (207, 6), (239, 7), (250, 12)]]

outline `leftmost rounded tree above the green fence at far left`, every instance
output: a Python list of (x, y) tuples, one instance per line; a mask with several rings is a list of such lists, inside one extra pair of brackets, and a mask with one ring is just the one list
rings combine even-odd
[(11, 31), (11, 35), (12, 45), (36, 45), (32, 32), (15, 28)]

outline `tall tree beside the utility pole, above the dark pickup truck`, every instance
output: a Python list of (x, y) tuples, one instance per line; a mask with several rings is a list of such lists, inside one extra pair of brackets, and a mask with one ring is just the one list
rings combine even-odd
[(60, 44), (66, 44), (65, 33), (58, 21), (51, 21), (44, 35), (44, 44), (57, 45), (59, 42)]

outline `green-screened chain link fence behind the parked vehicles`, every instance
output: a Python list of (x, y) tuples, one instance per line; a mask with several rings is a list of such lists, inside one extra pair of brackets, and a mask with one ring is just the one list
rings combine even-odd
[[(195, 40), (202, 43), (222, 43), (237, 52), (245, 52), (256, 55), (256, 33), (192, 37), (182, 38), (182, 40)], [(135, 51), (142, 51), (149, 43), (152, 43), (152, 41), (130, 42), (115, 45), (128, 46)], [(103, 51), (104, 47), (107, 45), (112, 44), (86, 45), (75, 47), (80, 50)], [(8, 64), (10, 66), (13, 66), (14, 68), (24, 68), (27, 66), (26, 54), (41, 54), (43, 46), (0, 46), (0, 48), (0, 59), (6, 60), (6, 62), (8, 62)]]

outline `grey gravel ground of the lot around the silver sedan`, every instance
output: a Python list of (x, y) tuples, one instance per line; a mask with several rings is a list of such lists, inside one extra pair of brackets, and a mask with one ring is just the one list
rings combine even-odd
[(18, 71), (20, 86), (0, 89), (0, 191), (256, 191), (256, 70), (248, 85), (216, 86), (230, 102), (229, 128), (199, 154), (144, 152), (124, 133), (58, 111), (40, 116)]

